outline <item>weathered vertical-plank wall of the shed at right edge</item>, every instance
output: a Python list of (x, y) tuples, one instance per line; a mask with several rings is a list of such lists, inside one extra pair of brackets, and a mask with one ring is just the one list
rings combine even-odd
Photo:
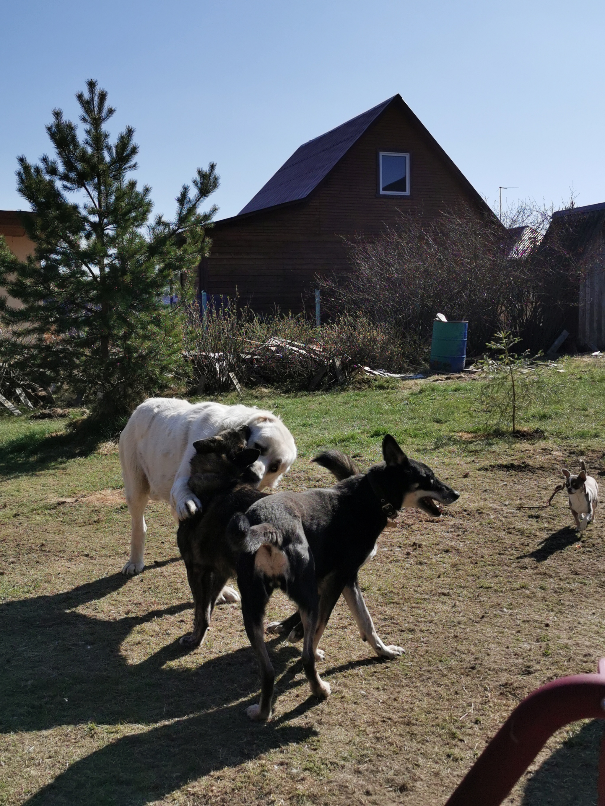
[(605, 349), (605, 232), (601, 230), (586, 256), (586, 280), (580, 286), (578, 339)]

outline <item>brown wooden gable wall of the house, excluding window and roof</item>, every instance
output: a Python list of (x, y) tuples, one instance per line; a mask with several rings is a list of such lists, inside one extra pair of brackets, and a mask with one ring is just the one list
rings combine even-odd
[[(378, 195), (378, 151), (410, 154), (410, 196)], [(267, 312), (313, 309), (313, 278), (349, 267), (342, 236), (374, 237), (398, 210), (435, 217), (461, 202), (477, 206), (464, 181), (396, 106), (353, 145), (303, 202), (217, 222), (201, 290), (251, 301)]]

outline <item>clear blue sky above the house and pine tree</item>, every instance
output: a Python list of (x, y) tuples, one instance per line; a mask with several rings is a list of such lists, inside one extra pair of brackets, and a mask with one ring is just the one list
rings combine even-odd
[(98, 79), (156, 211), (218, 165), (236, 214), (301, 143), (401, 93), (482, 196), (605, 202), (605, 2), (19, 0), (0, 4), (0, 209), (15, 157)]

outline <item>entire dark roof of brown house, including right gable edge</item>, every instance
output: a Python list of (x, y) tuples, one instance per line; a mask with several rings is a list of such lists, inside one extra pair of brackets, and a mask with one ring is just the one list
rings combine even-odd
[(328, 176), (336, 163), (348, 152), (348, 149), (353, 146), (369, 129), (380, 115), (391, 104), (398, 104), (399, 108), (407, 116), (411, 125), (419, 129), (421, 135), (432, 147), (433, 151), (448, 165), (458, 177), (458, 179), (465, 185), (467, 192), (474, 198), (478, 206), (488, 214), (492, 214), (489, 206), (487, 206), (485, 199), (470, 184), (468, 179), (464, 176), (457, 165), (449, 158), (440, 147), (436, 139), (431, 135), (426, 127), (420, 123), (419, 118), (415, 116), (407, 103), (403, 101), (401, 95), (394, 95), (392, 98), (387, 98), (386, 101), (373, 106), (372, 109), (357, 115), (357, 118), (348, 120), (336, 129), (326, 132), (324, 135), (315, 137), (309, 140), (308, 143), (300, 146), (289, 160), (282, 165), (282, 168), (273, 174), (267, 184), (262, 187), (257, 195), (253, 197), (243, 210), (233, 216), (232, 218), (223, 218), (217, 224), (223, 222), (232, 222), (239, 218), (240, 215), (247, 215), (257, 213), (260, 210), (267, 210), (270, 207), (276, 207), (282, 204), (292, 202), (300, 202), (306, 198), (312, 190), (314, 190), (319, 183)]

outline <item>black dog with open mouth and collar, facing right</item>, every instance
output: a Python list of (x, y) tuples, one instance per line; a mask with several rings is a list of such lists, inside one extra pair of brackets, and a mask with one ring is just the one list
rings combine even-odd
[[(276, 587), (295, 601), (294, 589), (297, 596), (305, 597), (303, 612), (267, 629), (290, 633), (291, 638), (304, 637), (303, 665), (314, 694), (330, 693), (328, 685), (319, 680), (315, 659), (323, 657), (319, 640), (341, 593), (361, 638), (378, 655), (395, 658), (403, 652), (399, 646), (385, 646), (378, 637), (357, 572), (375, 553), (378, 535), (399, 509), (416, 507), (439, 517), (440, 504), (452, 504), (460, 493), (438, 480), (430, 467), (408, 459), (389, 434), (382, 441), (382, 455), (384, 462), (361, 475), (357, 465), (339, 451), (323, 453), (313, 461), (340, 478), (338, 484), (306, 492), (277, 492), (256, 501), (245, 515), (235, 515), (227, 527), (234, 550), (243, 552), (237, 561), (237, 581), (246, 631), (261, 665), (261, 702), (248, 708), (252, 719), (271, 716), (275, 675), (263, 639), (263, 617)], [(261, 551), (263, 559), (259, 559)], [(316, 627), (311, 571), (319, 593)]]

